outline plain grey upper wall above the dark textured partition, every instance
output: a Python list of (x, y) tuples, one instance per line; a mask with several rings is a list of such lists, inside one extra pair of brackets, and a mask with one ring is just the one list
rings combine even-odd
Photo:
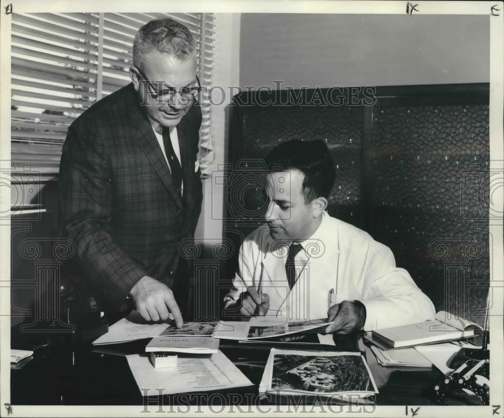
[[(240, 86), (489, 81), (488, 16), (242, 14)], [(285, 87), (283, 87), (285, 88)]]

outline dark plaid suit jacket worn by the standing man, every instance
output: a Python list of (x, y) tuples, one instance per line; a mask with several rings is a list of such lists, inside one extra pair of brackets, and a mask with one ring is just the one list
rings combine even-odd
[(183, 197), (133, 84), (103, 98), (70, 126), (59, 168), (62, 234), (75, 246), (86, 280), (122, 312), (145, 275), (174, 285), (179, 244), (192, 238), (202, 203), (195, 172), (201, 109), (194, 103), (177, 126)]

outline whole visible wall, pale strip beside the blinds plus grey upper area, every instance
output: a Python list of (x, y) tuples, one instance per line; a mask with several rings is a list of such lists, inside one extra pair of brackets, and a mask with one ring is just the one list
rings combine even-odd
[(216, 149), (212, 177), (204, 180), (200, 242), (222, 237), (218, 164), (227, 161), (234, 86), (276, 88), (274, 80), (284, 80), (283, 88), (489, 81), (487, 16), (216, 13), (215, 22)]

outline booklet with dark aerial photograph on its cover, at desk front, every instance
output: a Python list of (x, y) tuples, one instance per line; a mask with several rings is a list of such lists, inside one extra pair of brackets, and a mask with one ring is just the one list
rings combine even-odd
[(331, 396), (355, 403), (378, 390), (360, 353), (272, 348), (259, 392)]

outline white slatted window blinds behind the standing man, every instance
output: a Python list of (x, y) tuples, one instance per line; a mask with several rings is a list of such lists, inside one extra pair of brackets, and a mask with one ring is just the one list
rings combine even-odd
[[(193, 32), (198, 73), (209, 86), (213, 16), (168, 13), (34, 13), (13, 15), (11, 143), (13, 171), (29, 165), (42, 180), (56, 178), (68, 127), (96, 100), (130, 83), (133, 39), (152, 19), (171, 17)], [(202, 92), (202, 172), (213, 161), (211, 108)]]

